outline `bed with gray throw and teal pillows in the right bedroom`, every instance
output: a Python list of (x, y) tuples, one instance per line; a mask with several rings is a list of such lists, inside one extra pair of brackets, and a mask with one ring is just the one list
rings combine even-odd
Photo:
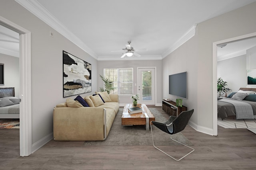
[(218, 98), (218, 118), (236, 116), (236, 119), (254, 119), (256, 115), (256, 88), (240, 88), (227, 98)]

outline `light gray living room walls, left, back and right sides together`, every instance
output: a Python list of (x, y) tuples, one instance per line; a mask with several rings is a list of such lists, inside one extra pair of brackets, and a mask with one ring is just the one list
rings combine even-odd
[[(197, 131), (214, 135), (212, 43), (255, 33), (256, 3), (246, 5), (198, 23), (195, 35), (175, 49), (172, 53), (158, 60), (138, 61), (98, 61), (78, 45), (75, 45), (62, 34), (44, 23), (16, 1), (1, 2), (0, 16), (31, 32), (31, 150), (40, 149), (52, 139), (52, 111), (56, 104), (64, 102), (62, 94), (62, 51), (68, 51), (76, 57), (92, 64), (92, 92), (94, 94), (102, 86), (99, 74), (103, 73), (105, 64), (122, 67), (156, 67), (157, 97), (156, 104), (168, 95), (168, 75), (177, 72), (188, 72), (188, 99), (183, 100), (185, 106), (194, 109), (190, 125)], [(40, 25), (40, 26), (39, 26)], [(192, 26), (192, 25), (191, 25)], [(54, 38), (49, 36), (49, 30)], [(135, 77), (134, 77), (135, 78)], [(127, 99), (120, 98), (124, 104)], [(44, 109), (38, 109), (44, 108)], [(29, 155), (28, 154), (28, 155)]]

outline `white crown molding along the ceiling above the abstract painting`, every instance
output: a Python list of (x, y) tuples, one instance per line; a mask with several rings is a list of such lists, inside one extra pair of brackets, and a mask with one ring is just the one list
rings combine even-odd
[(21, 6), (26, 8), (29, 12), (34, 14), (40, 20), (44, 21), (50, 27), (58, 31), (61, 35), (66, 37), (72, 43), (80, 47), (86, 53), (91, 55), (94, 59), (98, 59), (98, 56), (92, 49), (90, 49), (86, 44), (84, 44), (78, 37), (76, 37), (71, 31), (68, 30), (66, 26), (64, 26), (59, 20), (57, 20), (52, 14), (46, 10), (41, 4), (39, 4), (36, 0), (15, 0)]

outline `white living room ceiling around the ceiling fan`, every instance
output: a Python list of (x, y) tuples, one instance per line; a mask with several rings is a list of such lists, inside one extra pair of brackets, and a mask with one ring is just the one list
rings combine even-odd
[[(181, 37), (184, 37), (195, 24), (256, 2), (256, 0), (16, 1), (62, 35), (72, 37), (72, 42), (78, 42), (79, 47), (98, 60), (119, 60), (123, 52), (111, 51), (124, 49), (127, 41), (132, 41), (131, 46), (135, 51), (147, 49), (137, 52), (141, 55), (140, 58), (131, 59), (162, 59), (174, 47), (178, 47)], [(54, 24), (51, 23), (52, 21)]]

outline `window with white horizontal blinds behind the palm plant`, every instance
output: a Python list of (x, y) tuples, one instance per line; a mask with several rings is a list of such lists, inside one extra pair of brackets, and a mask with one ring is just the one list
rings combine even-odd
[(104, 77), (114, 82), (116, 90), (113, 94), (133, 94), (133, 68), (104, 68)]

